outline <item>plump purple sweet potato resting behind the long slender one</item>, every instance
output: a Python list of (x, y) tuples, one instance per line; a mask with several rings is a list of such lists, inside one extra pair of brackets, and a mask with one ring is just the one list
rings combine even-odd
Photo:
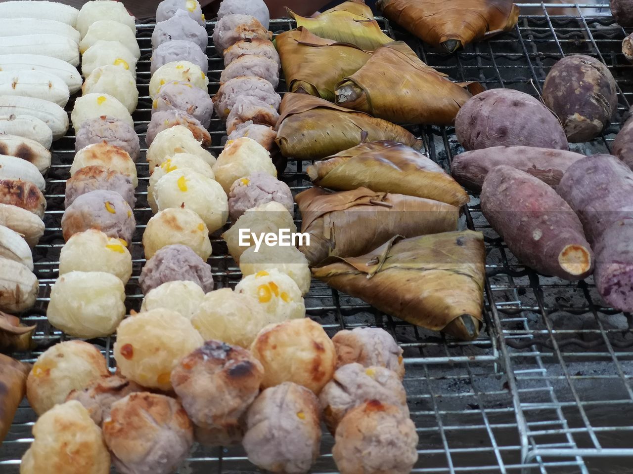
[(539, 100), (512, 89), (491, 89), (469, 99), (455, 119), (467, 150), (523, 145), (567, 150), (563, 126)]

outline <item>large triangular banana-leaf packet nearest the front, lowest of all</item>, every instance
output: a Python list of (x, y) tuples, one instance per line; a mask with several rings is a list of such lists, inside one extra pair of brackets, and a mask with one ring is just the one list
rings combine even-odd
[(482, 233), (447, 232), (330, 257), (312, 274), (389, 315), (470, 341), (483, 320), (485, 258)]

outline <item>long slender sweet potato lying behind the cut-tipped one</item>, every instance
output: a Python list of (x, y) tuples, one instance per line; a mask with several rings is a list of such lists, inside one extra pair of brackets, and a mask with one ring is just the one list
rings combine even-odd
[(584, 155), (551, 148), (492, 147), (457, 155), (451, 163), (451, 174), (460, 185), (479, 192), (489, 171), (505, 164), (556, 188), (567, 168), (582, 157)]

